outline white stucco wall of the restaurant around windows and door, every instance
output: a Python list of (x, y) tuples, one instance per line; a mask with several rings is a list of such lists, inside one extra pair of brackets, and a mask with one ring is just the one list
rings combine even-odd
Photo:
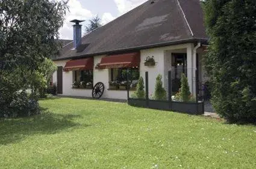
[[(192, 62), (190, 56), (192, 55), (192, 46), (193, 44), (180, 44), (175, 46), (167, 46), (167, 47), (160, 47), (154, 49), (146, 49), (140, 51), (140, 76), (143, 77), (145, 80), (145, 72), (148, 71), (149, 73), (149, 95), (154, 94), (155, 90), (155, 79), (158, 74), (163, 76), (163, 85), (168, 90), (168, 79), (167, 79), (167, 72), (172, 68), (172, 53), (186, 53), (187, 55), (187, 65), (190, 67), (190, 63)], [(199, 52), (201, 52), (199, 50)], [(94, 56), (94, 67), (96, 64), (101, 62), (101, 58), (105, 55), (101, 56)], [(156, 65), (154, 67), (145, 67), (144, 62), (147, 56), (154, 56)], [(199, 55), (199, 58), (202, 58), (202, 55)], [(64, 61), (55, 61), (55, 64), (64, 68), (66, 62), (69, 60)], [(201, 63), (199, 64), (201, 67)], [(204, 71), (200, 68), (199, 72)], [(188, 71), (188, 76), (191, 76)], [(199, 75), (200, 77), (200, 75)], [(203, 79), (203, 77), (201, 77)], [(72, 89), (72, 81), (73, 81), (73, 73), (72, 71), (63, 72), (63, 95), (68, 96), (86, 96), (92, 97), (92, 89)], [(93, 70), (93, 86), (98, 83), (102, 82), (105, 86), (104, 95), (102, 98), (114, 98), (114, 99), (127, 99), (127, 92), (125, 90), (108, 90), (108, 82), (110, 81), (110, 70)], [(53, 75), (53, 82), (57, 82), (57, 72)], [(189, 83), (192, 83), (192, 77), (189, 77)], [(131, 92), (132, 93), (132, 92)], [(130, 94), (131, 94), (130, 93)]]

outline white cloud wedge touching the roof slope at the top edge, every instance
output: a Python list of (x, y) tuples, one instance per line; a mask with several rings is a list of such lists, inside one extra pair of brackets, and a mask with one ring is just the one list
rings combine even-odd
[(143, 4), (143, 2), (146, 1), (147, 0), (114, 0), (119, 11), (119, 14), (124, 14), (132, 10), (133, 8), (136, 8), (137, 6)]

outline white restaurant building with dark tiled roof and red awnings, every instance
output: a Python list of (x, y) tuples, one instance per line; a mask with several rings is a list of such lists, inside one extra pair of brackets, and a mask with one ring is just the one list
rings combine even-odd
[[(202, 58), (208, 37), (199, 0), (150, 0), (84, 37), (81, 21), (72, 22), (73, 41), (54, 59), (59, 95), (92, 97), (93, 85), (102, 82), (102, 98), (127, 99), (122, 86), (127, 69), (133, 75), (131, 87), (148, 71), (149, 93), (154, 93), (158, 74), (168, 90), (169, 70), (173, 82), (187, 74), (193, 95), (196, 70), (199, 81), (205, 81)], [(152, 58), (155, 62), (146, 62)]]

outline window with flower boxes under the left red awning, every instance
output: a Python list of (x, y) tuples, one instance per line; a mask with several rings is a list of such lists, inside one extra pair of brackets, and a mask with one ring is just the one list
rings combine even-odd
[(92, 89), (93, 70), (73, 71), (73, 88)]

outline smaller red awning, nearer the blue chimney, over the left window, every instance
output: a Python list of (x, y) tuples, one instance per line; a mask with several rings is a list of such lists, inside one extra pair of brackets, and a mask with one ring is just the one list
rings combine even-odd
[(66, 63), (64, 71), (93, 70), (93, 58), (70, 60)]

